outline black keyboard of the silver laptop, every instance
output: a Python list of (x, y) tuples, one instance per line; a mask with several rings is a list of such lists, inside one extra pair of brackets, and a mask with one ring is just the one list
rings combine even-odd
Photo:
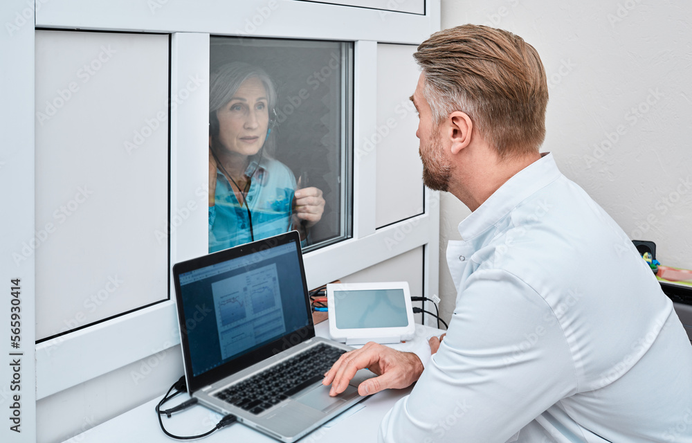
[(259, 414), (279, 404), (291, 395), (322, 380), (325, 372), (346, 352), (338, 347), (319, 345), (309, 347), (304, 352), (270, 366), (215, 394), (227, 403)]

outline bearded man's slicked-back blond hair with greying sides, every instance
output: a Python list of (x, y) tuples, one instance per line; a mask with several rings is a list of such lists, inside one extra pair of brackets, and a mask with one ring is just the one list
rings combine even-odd
[(431, 35), (413, 56), (436, 124), (463, 111), (502, 159), (538, 152), (548, 86), (534, 46), (506, 30), (464, 25)]

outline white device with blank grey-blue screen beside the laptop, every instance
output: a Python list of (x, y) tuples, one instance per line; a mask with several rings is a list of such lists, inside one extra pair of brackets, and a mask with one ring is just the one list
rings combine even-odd
[(347, 345), (399, 343), (415, 334), (407, 282), (327, 284), (329, 334)]

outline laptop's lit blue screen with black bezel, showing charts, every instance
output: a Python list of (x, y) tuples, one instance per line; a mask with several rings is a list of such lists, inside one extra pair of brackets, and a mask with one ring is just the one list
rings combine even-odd
[(233, 374), (312, 327), (295, 232), (176, 264), (174, 279), (188, 379), (230, 362), (220, 375)]

